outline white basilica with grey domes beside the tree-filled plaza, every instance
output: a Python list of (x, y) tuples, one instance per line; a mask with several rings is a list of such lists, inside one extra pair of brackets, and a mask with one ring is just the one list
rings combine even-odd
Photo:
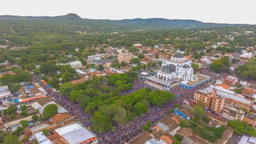
[(191, 67), (191, 60), (186, 60), (178, 49), (170, 60), (163, 60), (162, 67), (157, 71), (157, 78), (169, 81), (174, 78), (182, 81), (193, 81), (194, 74)]

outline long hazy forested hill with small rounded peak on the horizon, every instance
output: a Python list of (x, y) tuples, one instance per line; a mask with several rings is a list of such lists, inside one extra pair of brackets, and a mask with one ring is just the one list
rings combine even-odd
[(33, 17), (33, 16), (13, 16), (0, 15), (0, 20), (58, 20), (70, 25), (76, 23), (79, 26), (87, 28), (95, 28), (99, 26), (99, 30), (108, 28), (108, 30), (152, 30), (152, 29), (185, 29), (185, 28), (201, 28), (201, 27), (219, 27), (219, 26), (247, 26), (248, 24), (228, 24), (228, 23), (203, 23), (197, 20), (169, 20), (164, 18), (136, 18), (124, 20), (94, 20), (79, 17), (77, 14), (66, 14), (61, 16), (49, 17)]

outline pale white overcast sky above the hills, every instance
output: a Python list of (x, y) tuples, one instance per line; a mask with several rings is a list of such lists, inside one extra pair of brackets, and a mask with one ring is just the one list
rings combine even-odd
[(1, 0), (0, 15), (122, 20), (190, 19), (209, 23), (256, 24), (256, 0)]

